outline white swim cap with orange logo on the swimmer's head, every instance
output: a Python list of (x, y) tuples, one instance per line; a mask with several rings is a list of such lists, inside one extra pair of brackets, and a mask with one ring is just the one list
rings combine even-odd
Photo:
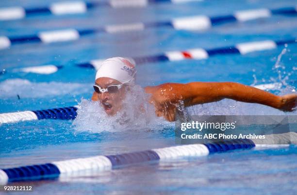
[(96, 79), (109, 77), (121, 83), (134, 83), (135, 61), (132, 58), (113, 57), (106, 59), (96, 73)]

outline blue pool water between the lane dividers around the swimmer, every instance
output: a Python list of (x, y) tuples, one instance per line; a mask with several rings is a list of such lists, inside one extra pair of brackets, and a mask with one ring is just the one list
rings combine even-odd
[[(53, 1), (0, 1), (0, 7), (47, 6)], [(42, 14), (0, 21), (0, 35), (31, 35), (40, 31), (99, 28), (107, 24), (165, 21), (175, 17), (229, 15), (237, 10), (296, 6), (294, 0), (204, 0), (183, 4), (160, 3), (145, 8), (94, 8), (81, 15)], [(142, 128), (112, 128), (90, 124), (95, 71), (74, 66), (112, 56), (149, 56), (191, 48), (219, 48), (261, 40), (297, 37), (296, 15), (276, 15), (243, 23), (227, 23), (207, 31), (152, 28), (119, 34), (99, 33), (79, 40), (51, 44), (23, 43), (0, 50), (0, 113), (80, 104), (84, 112), (73, 121), (41, 120), (0, 125), (0, 168), (55, 160), (119, 154), (175, 144), (174, 123), (155, 119)], [(284, 50), (285, 49), (285, 50)], [(276, 64), (278, 56), (281, 61)], [(205, 60), (157, 62), (137, 66), (142, 87), (164, 82), (232, 81), (246, 85), (281, 83), (275, 94), (296, 92), (297, 44), (246, 55), (216, 55)], [(39, 65), (63, 65), (53, 74), (15, 71)], [(276, 68), (280, 66), (279, 68)], [(20, 97), (18, 99), (17, 95)], [(96, 111), (96, 110), (95, 110)], [(201, 114), (285, 115), (279, 110), (223, 100), (188, 108)], [(290, 113), (297, 114), (297, 111)], [(103, 115), (99, 115), (103, 119)], [(90, 120), (91, 119), (91, 120)], [(139, 120), (139, 119), (138, 119)], [(135, 121), (141, 123), (143, 121)], [(104, 125), (100, 125), (104, 124)], [(33, 194), (286, 194), (297, 193), (297, 147), (239, 151), (166, 162), (139, 164), (125, 169), (75, 178), (29, 182)], [(0, 192), (1, 193), (1, 192)], [(17, 194), (17, 193), (16, 193)]]

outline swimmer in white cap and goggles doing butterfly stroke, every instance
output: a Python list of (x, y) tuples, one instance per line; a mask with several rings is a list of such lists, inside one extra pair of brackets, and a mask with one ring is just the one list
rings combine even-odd
[[(135, 62), (131, 58), (106, 59), (96, 73), (93, 101), (99, 101), (105, 112), (113, 116), (122, 109), (122, 100), (134, 85)], [(144, 88), (150, 94), (148, 102), (155, 107), (158, 117), (175, 121), (179, 105), (194, 106), (228, 98), (236, 101), (271, 106), (282, 111), (293, 111), (297, 94), (277, 96), (261, 89), (232, 82), (165, 83)], [(142, 109), (142, 108), (139, 108)]]

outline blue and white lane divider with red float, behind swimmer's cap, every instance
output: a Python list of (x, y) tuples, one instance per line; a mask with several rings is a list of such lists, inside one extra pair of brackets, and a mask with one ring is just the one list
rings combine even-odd
[[(203, 49), (194, 48), (186, 51), (170, 51), (162, 54), (157, 54), (153, 56), (143, 56), (143, 57), (132, 57), (137, 64), (154, 63), (154, 62), (165, 62), (165, 61), (179, 61), (186, 59), (202, 60), (212, 57), (214, 55), (227, 55), (227, 54), (247, 54), (251, 52), (259, 52), (264, 50), (272, 50), (277, 48), (277, 46), (282, 46), (284, 44), (296, 43), (296, 39), (288, 40), (264, 40), (264, 41), (254, 41), (247, 43), (239, 43), (235, 46), (223, 47), (223, 48), (213, 48), (213, 49)], [(96, 59), (89, 62), (76, 64), (78, 67), (96, 69), (101, 66), (105, 59)], [(31, 72), (38, 74), (51, 74), (63, 68), (63, 66), (55, 65), (42, 65), (26, 68), (13, 69), (12, 72)], [(5, 70), (6, 71), (6, 70)]]

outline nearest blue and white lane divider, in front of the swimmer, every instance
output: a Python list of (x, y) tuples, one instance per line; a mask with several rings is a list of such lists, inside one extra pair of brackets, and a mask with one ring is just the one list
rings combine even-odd
[[(271, 142), (271, 140), (273, 142)], [(31, 181), (49, 178), (63, 178), (83, 175), (85, 172), (112, 170), (118, 166), (132, 165), (148, 161), (174, 160), (186, 157), (202, 157), (213, 153), (228, 152), (238, 149), (255, 147), (287, 147), (296, 144), (297, 133), (289, 132), (277, 136), (266, 135), (264, 141), (252, 139), (238, 139), (207, 144), (179, 145), (165, 148), (146, 150), (141, 152), (124, 153), (118, 155), (95, 156), (72, 160), (54, 161), (46, 164), (36, 164), (16, 168), (0, 169), (0, 183), (14, 181)], [(293, 142), (292, 142), (293, 141)], [(270, 143), (287, 143), (282, 145), (268, 145)]]

